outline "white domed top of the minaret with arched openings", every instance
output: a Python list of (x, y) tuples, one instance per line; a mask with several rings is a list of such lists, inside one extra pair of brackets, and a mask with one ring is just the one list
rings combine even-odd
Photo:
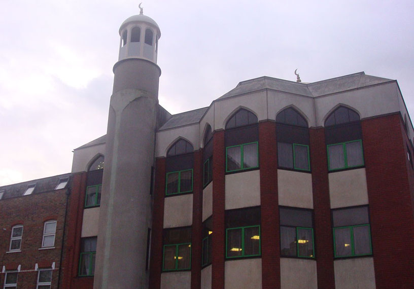
[(121, 37), (119, 58), (144, 58), (157, 63), (158, 39), (161, 31), (157, 22), (141, 13), (127, 18), (119, 28)]

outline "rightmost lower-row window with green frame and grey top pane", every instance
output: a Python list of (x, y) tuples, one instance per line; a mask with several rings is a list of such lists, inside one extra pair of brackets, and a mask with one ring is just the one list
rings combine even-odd
[(372, 254), (368, 207), (332, 210), (335, 257)]

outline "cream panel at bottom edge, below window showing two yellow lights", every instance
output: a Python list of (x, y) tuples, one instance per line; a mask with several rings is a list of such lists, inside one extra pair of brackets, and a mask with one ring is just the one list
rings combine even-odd
[(262, 259), (226, 261), (224, 265), (225, 289), (260, 289), (262, 287)]

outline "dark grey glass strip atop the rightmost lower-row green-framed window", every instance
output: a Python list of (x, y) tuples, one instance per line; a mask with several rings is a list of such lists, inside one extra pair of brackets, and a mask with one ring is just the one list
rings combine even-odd
[(368, 224), (368, 207), (333, 210), (332, 218), (334, 227)]

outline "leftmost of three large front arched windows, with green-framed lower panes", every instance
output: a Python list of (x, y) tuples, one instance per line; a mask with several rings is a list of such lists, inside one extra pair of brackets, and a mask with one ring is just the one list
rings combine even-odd
[(227, 121), (225, 132), (226, 172), (259, 167), (257, 117), (240, 109)]

